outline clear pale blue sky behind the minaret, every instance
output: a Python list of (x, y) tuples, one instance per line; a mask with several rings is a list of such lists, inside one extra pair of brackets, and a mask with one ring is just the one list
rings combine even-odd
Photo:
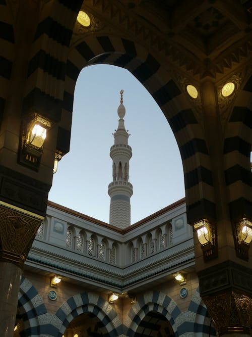
[(58, 164), (48, 199), (109, 222), (109, 157), (123, 89), (125, 128), (131, 133), (131, 223), (184, 197), (183, 170), (170, 126), (144, 86), (127, 70), (84, 68), (75, 88), (70, 153)]

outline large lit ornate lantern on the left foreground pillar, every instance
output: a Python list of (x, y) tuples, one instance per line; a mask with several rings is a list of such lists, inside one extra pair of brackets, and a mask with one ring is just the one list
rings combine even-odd
[(33, 113), (22, 121), (19, 160), (21, 164), (38, 170), (43, 153), (43, 144), (47, 131), (53, 122), (43, 116)]

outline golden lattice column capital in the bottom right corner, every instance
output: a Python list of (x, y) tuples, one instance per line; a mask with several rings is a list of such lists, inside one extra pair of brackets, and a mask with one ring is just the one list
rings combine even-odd
[(252, 323), (252, 298), (229, 291), (203, 298), (219, 335), (230, 332), (249, 334)]

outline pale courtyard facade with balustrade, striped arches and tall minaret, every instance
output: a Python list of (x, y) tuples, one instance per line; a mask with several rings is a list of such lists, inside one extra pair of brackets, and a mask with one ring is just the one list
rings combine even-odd
[(123, 90), (120, 97), (109, 224), (48, 202), (24, 266), (15, 337), (216, 335), (184, 200), (131, 226), (132, 148)]

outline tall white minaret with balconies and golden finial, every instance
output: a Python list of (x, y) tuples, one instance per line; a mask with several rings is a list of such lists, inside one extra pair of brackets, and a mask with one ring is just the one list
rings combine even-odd
[(118, 228), (131, 225), (131, 196), (133, 186), (129, 182), (130, 159), (132, 149), (128, 145), (129, 133), (125, 130), (123, 117), (125, 108), (122, 101), (123, 90), (120, 91), (120, 105), (117, 109), (119, 116), (118, 128), (114, 135), (114, 145), (110, 148), (110, 157), (113, 161), (113, 181), (108, 185), (110, 197), (109, 223)]

